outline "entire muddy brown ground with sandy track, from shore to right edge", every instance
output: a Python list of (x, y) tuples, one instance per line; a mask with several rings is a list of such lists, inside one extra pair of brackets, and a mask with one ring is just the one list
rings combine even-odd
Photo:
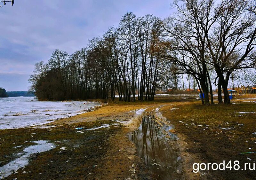
[[(255, 170), (192, 172), (193, 163), (256, 159), (255, 154), (238, 155), (255, 151), (256, 113), (241, 113), (256, 111), (254, 98), (236, 96), (235, 104), (211, 107), (200, 105), (196, 96), (184, 95), (156, 96), (154, 102), (108, 102), (92, 112), (44, 126), (0, 130), (0, 167), (18, 158), (25, 147), (35, 144), (32, 141), (46, 140), (56, 148), (30, 156), (27, 166), (6, 179), (255, 179)], [(138, 131), (144, 116), (154, 122), (143, 123), (144, 130), (151, 129), (148, 136)], [(101, 126), (105, 127), (92, 129)], [(146, 148), (146, 155), (144, 146), (132, 139), (136, 132), (145, 135), (143, 142), (155, 144)], [(167, 153), (160, 152), (162, 141)], [(166, 157), (173, 162), (163, 171), (166, 163), (163, 168), (154, 158), (168, 161), (156, 155), (169, 152)], [(161, 176), (164, 172), (170, 175)]]

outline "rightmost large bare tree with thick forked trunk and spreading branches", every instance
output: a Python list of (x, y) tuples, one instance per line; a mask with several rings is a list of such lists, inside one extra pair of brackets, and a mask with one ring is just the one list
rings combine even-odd
[(255, 1), (222, 0), (211, 11), (214, 23), (206, 31), (207, 47), (219, 78), (218, 91), (221, 85), (224, 103), (230, 104), (227, 89), (230, 75), (236, 69), (255, 66), (256, 56), (252, 51), (256, 38)]

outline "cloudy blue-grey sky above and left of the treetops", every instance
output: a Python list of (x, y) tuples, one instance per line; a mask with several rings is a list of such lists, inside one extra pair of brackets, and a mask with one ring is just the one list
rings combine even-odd
[(172, 0), (15, 0), (0, 8), (0, 87), (27, 91), (34, 64), (55, 49), (72, 53), (117, 26), (126, 12), (171, 14)]

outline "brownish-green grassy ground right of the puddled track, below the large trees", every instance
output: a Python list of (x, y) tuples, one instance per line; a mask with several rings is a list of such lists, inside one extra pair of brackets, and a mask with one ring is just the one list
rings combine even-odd
[[(186, 151), (193, 157), (194, 163), (232, 163), (239, 160), (241, 168), (244, 163), (253, 163), (256, 154), (238, 153), (255, 151), (256, 132), (255, 103), (236, 102), (229, 106), (215, 104), (210, 107), (200, 103), (186, 103), (161, 108), (163, 115), (174, 124), (174, 133), (186, 142)], [(250, 148), (250, 149), (249, 149)], [(251, 160), (249, 160), (250, 158)], [(247, 167), (248, 168), (248, 167)], [(253, 170), (202, 171), (201, 175), (217, 179), (253, 179)]]

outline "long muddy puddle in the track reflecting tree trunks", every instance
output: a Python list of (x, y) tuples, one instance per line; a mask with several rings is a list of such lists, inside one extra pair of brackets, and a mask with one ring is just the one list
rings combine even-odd
[(157, 124), (154, 116), (145, 116), (139, 129), (129, 134), (136, 144), (137, 156), (155, 174), (156, 179), (180, 179), (183, 176), (183, 173), (177, 173), (177, 170), (182, 172), (182, 162), (175, 141), (168, 135), (170, 129), (172, 127), (166, 124)]

